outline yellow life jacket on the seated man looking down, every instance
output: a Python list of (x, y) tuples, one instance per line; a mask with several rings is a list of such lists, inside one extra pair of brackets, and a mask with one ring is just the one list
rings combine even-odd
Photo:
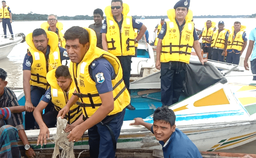
[[(57, 111), (60, 111), (67, 104), (68, 100), (71, 98), (75, 91), (75, 82), (72, 80), (71, 85), (69, 86), (68, 92), (63, 91), (57, 83), (55, 77), (56, 69), (49, 71), (46, 75), (46, 80), (51, 86), (51, 96), (52, 103)], [(78, 104), (74, 104), (68, 114), (66, 115), (69, 123), (75, 122), (80, 115), (82, 114), (82, 108)]]

